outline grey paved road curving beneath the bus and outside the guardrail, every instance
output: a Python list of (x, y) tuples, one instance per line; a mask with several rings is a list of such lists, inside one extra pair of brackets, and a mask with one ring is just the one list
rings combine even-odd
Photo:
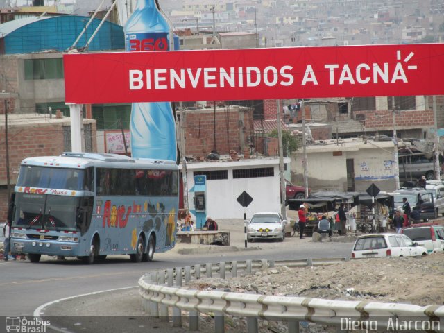
[[(155, 261), (151, 263), (135, 264), (126, 256), (110, 256), (101, 264), (87, 266), (77, 259), (66, 261), (56, 260), (53, 257), (44, 257), (40, 263), (31, 262), (0, 262), (1, 298), (0, 316), (28, 316), (32, 315), (41, 305), (54, 300), (73, 296), (105, 291), (110, 289), (125, 289), (108, 293), (96, 293), (92, 296), (71, 298), (41, 309), (53, 324), (74, 327), (71, 332), (146, 332), (147, 327), (159, 327), (156, 332), (162, 332), (160, 323), (147, 316), (142, 316), (139, 296), (137, 295), (137, 281), (148, 271), (178, 266), (191, 266), (205, 262), (220, 262), (236, 259), (306, 259), (321, 257), (348, 257), (352, 244), (349, 243), (313, 243), (310, 239), (287, 238), (283, 243), (260, 242), (248, 244), (243, 249), (243, 235), (237, 228), (243, 225), (225, 225), (232, 232), (232, 245), (237, 246), (236, 252), (227, 252), (234, 248), (214, 246), (193, 246), (178, 244), (168, 253), (155, 254)], [(224, 223), (219, 223), (221, 229)], [(191, 255), (180, 255), (184, 248), (195, 248)], [(205, 248), (205, 250), (201, 250)], [(205, 253), (202, 253), (205, 251)], [(76, 314), (76, 316), (67, 317)], [(87, 316), (86, 316), (87, 315)], [(140, 315), (140, 316), (139, 316)], [(68, 322), (66, 322), (68, 320)], [(3, 323), (0, 318), (0, 332), (3, 332)], [(76, 324), (76, 325), (75, 325)], [(71, 325), (71, 326), (70, 326)], [(110, 325), (110, 326), (109, 326)], [(120, 326), (118, 326), (120, 325)], [(130, 330), (127, 330), (131, 326)], [(173, 331), (166, 324), (165, 332)], [(99, 330), (99, 327), (103, 329)], [(112, 327), (115, 330), (107, 330)], [(49, 332), (49, 331), (47, 331)]]

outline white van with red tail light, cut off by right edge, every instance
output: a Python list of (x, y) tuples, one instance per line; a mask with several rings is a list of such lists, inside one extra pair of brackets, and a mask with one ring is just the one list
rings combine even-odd
[(427, 248), (428, 253), (444, 251), (444, 226), (438, 223), (419, 223), (401, 230), (418, 245)]

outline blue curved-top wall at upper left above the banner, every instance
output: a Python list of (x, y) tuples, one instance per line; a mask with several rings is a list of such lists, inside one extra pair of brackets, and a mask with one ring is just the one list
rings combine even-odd
[[(32, 53), (45, 50), (66, 51), (80, 35), (88, 17), (57, 16), (26, 24), (4, 37), (5, 53)], [(99, 19), (94, 19), (77, 43), (83, 47), (92, 36)], [(111, 22), (104, 22), (89, 44), (88, 51), (125, 49), (123, 27)]]

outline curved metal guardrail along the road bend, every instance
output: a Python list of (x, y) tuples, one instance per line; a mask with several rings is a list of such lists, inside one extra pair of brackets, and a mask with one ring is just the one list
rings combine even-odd
[[(444, 305), (418, 305), (373, 302), (369, 300), (323, 300), (252, 293), (181, 289), (182, 284), (202, 277), (253, 274), (277, 266), (300, 267), (340, 264), (348, 258), (307, 260), (246, 260), (178, 267), (155, 271), (139, 279), (144, 311), (151, 316), (182, 327), (182, 310), (189, 313), (189, 330), (198, 330), (199, 314), (214, 316), (214, 332), (224, 332), (225, 316), (247, 318), (248, 333), (258, 331), (258, 320), (287, 323), (288, 332), (299, 332), (300, 322), (339, 327), (341, 331), (428, 331), (444, 332)], [(172, 311), (170, 311), (172, 309)], [(407, 327), (407, 325), (409, 325)], [(443, 328), (441, 328), (443, 327)]]

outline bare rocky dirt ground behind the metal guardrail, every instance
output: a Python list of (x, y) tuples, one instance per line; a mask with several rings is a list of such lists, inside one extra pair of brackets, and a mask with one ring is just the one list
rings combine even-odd
[[(196, 280), (188, 287), (331, 300), (443, 305), (443, 262), (444, 253), (440, 253), (420, 258), (359, 259), (328, 266), (282, 266), (236, 279)], [(207, 287), (209, 285), (211, 287)]]

